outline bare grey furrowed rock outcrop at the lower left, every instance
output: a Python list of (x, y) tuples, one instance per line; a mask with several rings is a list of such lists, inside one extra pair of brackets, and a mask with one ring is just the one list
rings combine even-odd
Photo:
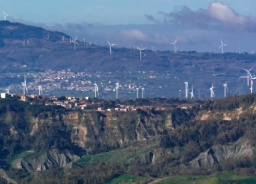
[(72, 155), (68, 151), (60, 152), (57, 149), (49, 150), (41, 155), (28, 155), (25, 158), (14, 160), (13, 167), (28, 172), (44, 171), (52, 166), (71, 167), (72, 162), (79, 156)]

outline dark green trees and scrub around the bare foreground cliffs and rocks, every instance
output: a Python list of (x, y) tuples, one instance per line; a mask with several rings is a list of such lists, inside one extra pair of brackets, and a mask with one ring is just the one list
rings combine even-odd
[[(137, 110), (141, 125), (147, 129), (144, 134), (151, 133), (147, 141), (133, 141), (124, 145), (106, 145), (90, 143), (91, 152), (88, 153), (72, 141), (72, 130), (62, 119), (68, 112), (59, 106), (30, 105), (17, 99), (7, 98), (0, 100), (0, 167), (19, 183), (106, 183), (113, 178), (119, 178), (123, 174), (131, 174), (140, 178), (133, 178), (134, 182), (148, 182), (153, 178), (168, 177), (170, 175), (209, 175), (230, 171), (236, 175), (256, 174), (256, 126), (254, 106), (256, 95), (242, 95), (217, 99), (215, 101), (197, 101), (192, 108), (180, 109), (181, 102), (178, 99), (144, 99), (143, 101), (113, 101), (109, 104), (152, 105), (171, 104), (166, 110)], [(253, 107), (253, 108), (251, 108)], [(224, 120), (224, 113), (234, 113), (237, 116), (238, 109), (242, 110), (239, 117), (232, 120)], [(209, 118), (199, 118), (200, 114), (211, 114)], [(154, 136), (148, 129), (147, 122), (157, 120), (158, 124), (166, 124), (167, 115), (171, 114), (172, 129), (162, 128), (158, 135)], [(126, 121), (127, 128), (120, 128), (123, 135), (132, 137), (136, 132), (137, 121), (135, 113), (113, 113), (112, 116)], [(101, 112), (91, 112), (100, 134), (108, 131), (104, 125), (106, 118)], [(82, 118), (82, 117), (79, 117)], [(33, 129), (32, 119), (40, 120), (39, 131), (30, 133)], [(49, 121), (51, 120), (51, 121)], [(50, 123), (51, 122), (51, 123)], [(157, 126), (157, 125), (155, 125)], [(89, 129), (87, 136), (93, 137)], [(99, 135), (98, 135), (99, 136)], [(114, 135), (113, 135), (114, 136)], [(146, 135), (145, 135), (146, 136)], [(97, 136), (95, 140), (99, 140)], [(211, 168), (192, 168), (189, 162), (197, 158), (200, 153), (207, 151), (215, 145), (227, 145), (239, 140), (249, 141), (254, 147), (254, 154), (249, 158), (234, 158), (223, 163), (215, 163)], [(71, 167), (60, 168), (56, 165), (46, 171), (29, 173), (12, 167), (14, 159), (28, 151), (34, 151), (37, 155), (51, 149), (60, 152), (68, 150), (71, 154), (85, 157), (81, 158)], [(162, 156), (156, 163), (147, 160), (142, 163), (141, 158), (147, 158), (152, 152), (162, 149)], [(105, 153), (104, 153), (105, 152)], [(170, 152), (171, 154), (167, 154)], [(36, 156), (36, 154), (34, 156)], [(146, 156), (143, 156), (146, 155)], [(210, 178), (211, 179), (211, 178)], [(188, 181), (193, 181), (193, 177)], [(3, 180), (4, 181), (4, 180)], [(255, 181), (252, 179), (251, 181)], [(229, 180), (228, 182), (232, 182)], [(239, 183), (239, 181), (236, 181)], [(243, 183), (250, 183), (242, 180)], [(167, 183), (163, 181), (162, 183)], [(225, 183), (225, 182), (223, 182)]]

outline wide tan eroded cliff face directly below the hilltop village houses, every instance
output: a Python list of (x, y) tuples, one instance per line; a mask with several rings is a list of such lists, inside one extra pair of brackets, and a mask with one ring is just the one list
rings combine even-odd
[(93, 154), (94, 147), (112, 149), (146, 141), (174, 127), (166, 112), (70, 112), (62, 120), (70, 128), (72, 142), (87, 154)]

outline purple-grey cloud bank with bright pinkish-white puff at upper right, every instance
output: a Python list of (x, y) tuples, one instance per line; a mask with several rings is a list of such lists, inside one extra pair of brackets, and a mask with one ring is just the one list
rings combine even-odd
[[(182, 6), (171, 13), (159, 12), (159, 14), (164, 17), (162, 23), (193, 25), (217, 30), (232, 29), (256, 32), (256, 17), (242, 16), (221, 2), (212, 2), (208, 9), (193, 11), (187, 6)], [(155, 22), (154, 17), (148, 18), (147, 16), (146, 18)]]

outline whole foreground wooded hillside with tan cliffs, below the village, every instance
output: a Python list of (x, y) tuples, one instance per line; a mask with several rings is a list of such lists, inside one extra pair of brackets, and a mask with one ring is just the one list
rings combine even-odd
[(180, 174), (255, 175), (255, 97), (131, 112), (1, 99), (0, 176), (9, 183), (72, 184), (106, 183), (123, 174), (144, 183)]

